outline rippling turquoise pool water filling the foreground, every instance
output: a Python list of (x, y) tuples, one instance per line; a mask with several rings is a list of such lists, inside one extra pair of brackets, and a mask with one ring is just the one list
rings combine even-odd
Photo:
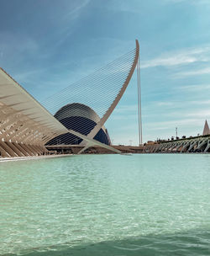
[(210, 255), (210, 155), (0, 163), (1, 255)]

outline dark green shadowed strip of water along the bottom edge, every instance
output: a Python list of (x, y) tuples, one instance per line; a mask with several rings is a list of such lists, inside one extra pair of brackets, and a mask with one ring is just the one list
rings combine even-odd
[(210, 232), (194, 231), (165, 235), (148, 235), (139, 238), (81, 244), (71, 247), (62, 244), (48, 248), (34, 248), (28, 256), (107, 256), (107, 255), (209, 255)]

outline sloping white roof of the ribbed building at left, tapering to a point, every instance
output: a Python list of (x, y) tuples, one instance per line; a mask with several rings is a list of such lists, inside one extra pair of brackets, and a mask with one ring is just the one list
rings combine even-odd
[(30, 145), (43, 146), (51, 138), (66, 132), (81, 137), (89, 146), (98, 145), (119, 152), (76, 131), (68, 131), (3, 68), (0, 68), (0, 139), (2, 141), (27, 142)]

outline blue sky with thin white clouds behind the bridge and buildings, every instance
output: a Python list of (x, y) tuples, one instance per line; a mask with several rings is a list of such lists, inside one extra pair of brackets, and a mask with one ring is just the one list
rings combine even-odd
[[(140, 44), (143, 141), (210, 123), (209, 0), (0, 0), (0, 67), (42, 101)], [(138, 145), (136, 72), (105, 126)]]

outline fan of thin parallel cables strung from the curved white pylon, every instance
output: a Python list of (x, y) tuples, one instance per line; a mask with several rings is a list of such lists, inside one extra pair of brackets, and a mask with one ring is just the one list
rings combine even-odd
[[(55, 115), (59, 109), (68, 104), (80, 104), (79, 109), (69, 110), (69, 116), (81, 116), (81, 112), (87, 112), (87, 107), (91, 108), (97, 115), (94, 120), (97, 124), (102, 116), (106, 114), (114, 99), (118, 96), (123, 83), (128, 77), (129, 71), (133, 65), (136, 49), (129, 51), (127, 54), (119, 57), (115, 61), (110, 62), (105, 67), (100, 68), (87, 77), (83, 77), (80, 81), (72, 83), (67, 88), (62, 89), (59, 93), (55, 93), (49, 98), (41, 102), (41, 104)], [(68, 110), (66, 109), (66, 116)], [(62, 122), (62, 120), (60, 120)], [(65, 125), (71, 129), (71, 121), (66, 120)], [(92, 124), (84, 124), (81, 120), (76, 120), (74, 131), (80, 131), (88, 135), (92, 130)], [(79, 141), (79, 138), (76, 138)], [(62, 143), (66, 143), (63, 139)]]

